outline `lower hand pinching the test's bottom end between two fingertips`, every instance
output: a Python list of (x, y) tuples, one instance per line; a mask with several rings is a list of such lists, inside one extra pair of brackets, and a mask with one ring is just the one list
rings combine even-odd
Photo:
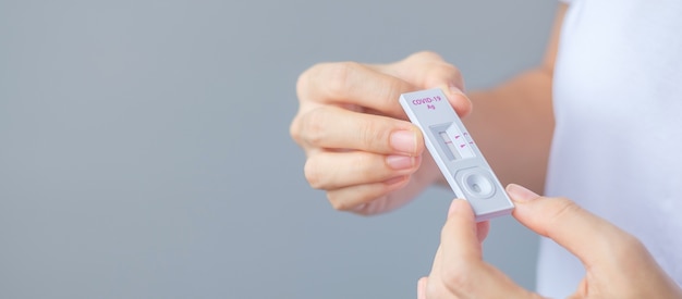
[[(585, 266), (571, 298), (682, 298), (680, 287), (632, 235), (565, 198), (540, 197), (519, 185), (507, 190), (519, 222), (567, 248)], [(454, 200), (431, 273), (418, 282), (418, 298), (540, 298), (483, 261), (477, 232), (468, 203)]]

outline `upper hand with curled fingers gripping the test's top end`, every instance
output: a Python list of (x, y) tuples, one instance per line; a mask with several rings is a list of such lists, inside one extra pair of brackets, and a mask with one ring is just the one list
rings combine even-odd
[(434, 184), (441, 175), (398, 99), (436, 87), (461, 116), (470, 112), (460, 72), (431, 52), (386, 65), (326, 63), (304, 72), (290, 130), (307, 155), (310, 186), (326, 190), (338, 210), (374, 214)]

